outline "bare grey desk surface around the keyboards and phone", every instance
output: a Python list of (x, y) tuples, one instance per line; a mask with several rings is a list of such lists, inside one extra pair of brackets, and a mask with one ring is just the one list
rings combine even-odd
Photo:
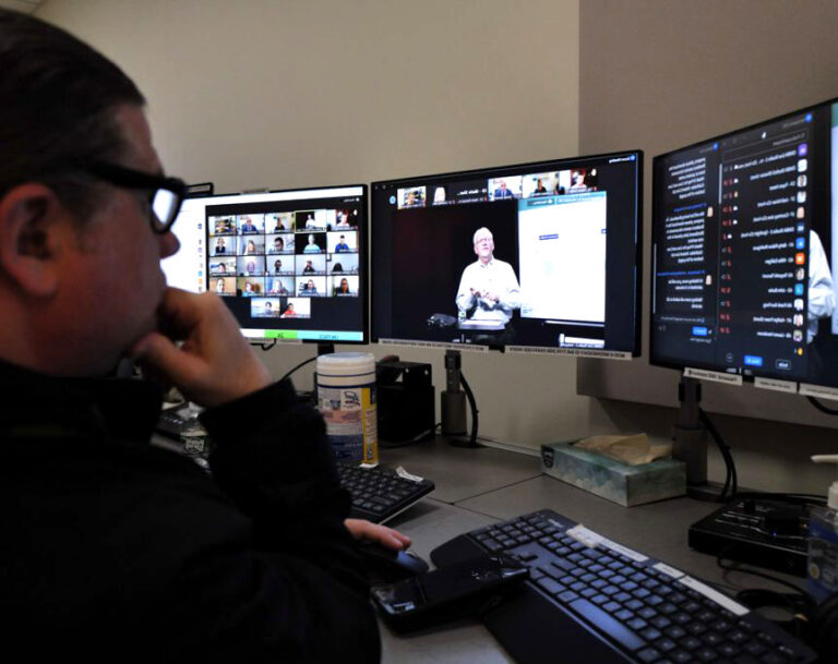
[[(433, 548), (458, 534), (551, 508), (708, 581), (734, 589), (766, 587), (766, 582), (745, 574), (723, 574), (713, 556), (689, 548), (689, 526), (717, 509), (716, 504), (674, 498), (624, 508), (542, 475), (537, 457), (491, 447), (457, 448), (441, 438), (383, 449), (381, 461), (403, 466), (436, 484), (428, 498), (388, 523), (410, 535), (412, 550), (429, 562)], [(384, 625), (381, 631), (382, 661), (386, 664), (513, 661), (477, 621), (460, 621), (447, 629), (407, 637), (393, 633)]]

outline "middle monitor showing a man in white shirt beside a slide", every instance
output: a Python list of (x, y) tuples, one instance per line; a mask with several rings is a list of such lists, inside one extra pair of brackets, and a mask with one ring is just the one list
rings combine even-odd
[(638, 354), (642, 162), (373, 182), (373, 339)]

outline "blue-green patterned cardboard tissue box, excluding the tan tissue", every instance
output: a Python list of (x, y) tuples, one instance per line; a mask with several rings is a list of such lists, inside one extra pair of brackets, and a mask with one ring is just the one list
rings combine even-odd
[(658, 459), (650, 463), (628, 466), (602, 455), (576, 449), (570, 443), (542, 445), (541, 470), (623, 507), (673, 498), (686, 493), (686, 467), (682, 461)]

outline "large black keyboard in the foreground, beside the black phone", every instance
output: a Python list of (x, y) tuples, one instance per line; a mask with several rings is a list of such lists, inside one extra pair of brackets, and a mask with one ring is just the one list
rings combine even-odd
[(786, 631), (698, 579), (543, 509), (459, 535), (438, 567), (503, 553), (530, 568), (525, 591), (483, 617), (523, 664), (812, 662)]

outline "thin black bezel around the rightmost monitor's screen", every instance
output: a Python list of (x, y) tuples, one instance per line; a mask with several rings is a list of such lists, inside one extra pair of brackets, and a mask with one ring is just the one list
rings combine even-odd
[[(654, 297), (655, 297), (655, 275), (653, 274), (654, 265), (655, 265), (655, 256), (653, 255), (653, 251), (655, 249), (655, 220), (658, 218), (658, 215), (660, 214), (660, 210), (658, 208), (658, 196), (655, 195), (656, 192), (656, 184), (658, 183), (659, 176), (658, 176), (658, 164), (668, 157), (671, 157), (672, 155), (690, 149), (694, 149), (697, 147), (701, 147), (702, 145), (706, 145), (708, 143), (714, 143), (716, 141), (721, 141), (723, 138), (727, 138), (729, 136), (733, 136), (735, 134), (741, 134), (743, 132), (752, 131), (757, 129), (758, 126), (763, 124), (768, 123), (775, 123), (780, 122), (787, 118), (792, 118), (794, 116), (799, 116), (807, 110), (813, 110), (816, 108), (821, 108), (823, 106), (827, 105), (834, 105), (838, 104), (838, 97), (831, 97), (829, 99), (825, 99), (824, 101), (818, 101), (817, 104), (810, 104), (807, 106), (802, 106), (795, 110), (781, 113), (779, 116), (773, 116), (769, 118), (765, 118), (763, 120), (759, 120), (757, 122), (753, 122), (751, 124), (747, 124), (745, 126), (737, 128), (732, 131), (725, 132), (723, 134), (718, 134), (716, 136), (709, 136), (707, 138), (704, 138), (702, 141), (696, 141), (694, 143), (690, 143), (689, 145), (683, 145), (681, 147), (677, 147), (674, 149), (670, 149), (666, 153), (661, 153), (659, 155), (655, 155), (651, 158), (651, 191), (649, 192), (651, 196), (651, 218), (649, 219), (649, 288), (647, 291), (647, 294), (649, 297), (649, 309), (648, 309), (648, 323), (649, 323), (649, 343), (648, 343), (648, 358), (649, 358), (649, 364), (651, 366), (660, 366), (661, 369), (673, 369), (677, 371), (683, 372), (685, 369), (701, 369), (708, 372), (714, 372), (718, 374), (725, 374), (725, 375), (735, 375), (741, 376), (743, 382), (746, 383), (753, 383), (754, 378), (761, 377), (761, 378), (770, 378), (770, 379), (778, 379), (778, 381), (788, 381), (788, 377), (782, 377), (777, 374), (773, 373), (763, 373), (759, 374), (747, 374), (744, 372), (728, 372), (723, 369), (720, 369), (718, 365), (710, 365), (706, 363), (701, 362), (668, 362), (663, 360), (656, 360), (655, 354), (653, 353), (654, 343), (655, 343), (655, 309), (654, 309)], [(792, 383), (805, 383), (805, 381), (790, 381)]]

